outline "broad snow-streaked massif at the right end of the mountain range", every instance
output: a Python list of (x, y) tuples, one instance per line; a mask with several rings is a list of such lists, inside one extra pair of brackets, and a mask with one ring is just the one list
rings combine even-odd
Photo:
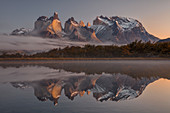
[(159, 39), (150, 35), (142, 24), (132, 18), (125, 17), (96, 17), (92, 29), (102, 42), (114, 42), (116, 44), (127, 44), (135, 40), (143, 42), (156, 42)]

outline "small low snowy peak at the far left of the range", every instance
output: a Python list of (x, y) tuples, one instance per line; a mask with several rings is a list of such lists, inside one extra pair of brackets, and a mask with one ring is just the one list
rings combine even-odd
[(14, 31), (12, 31), (11, 35), (26, 36), (26, 35), (29, 35), (29, 32), (30, 31), (25, 28), (20, 28), (20, 29), (15, 29)]

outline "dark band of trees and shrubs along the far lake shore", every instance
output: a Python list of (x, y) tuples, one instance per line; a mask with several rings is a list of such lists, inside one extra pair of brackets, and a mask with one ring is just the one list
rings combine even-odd
[(135, 41), (131, 44), (116, 45), (85, 45), (84, 47), (65, 47), (52, 49), (34, 55), (3, 54), (0, 58), (116, 58), (116, 57), (170, 57), (170, 42), (143, 43)]

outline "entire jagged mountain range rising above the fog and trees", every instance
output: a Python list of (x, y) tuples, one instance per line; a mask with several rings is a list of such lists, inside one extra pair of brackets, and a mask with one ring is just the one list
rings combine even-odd
[(25, 28), (14, 30), (11, 35), (41, 36), (48, 38), (69, 39), (71, 41), (128, 44), (135, 40), (157, 42), (159, 38), (149, 34), (136, 19), (119, 16), (97, 16), (91, 25), (82, 20), (77, 22), (69, 18), (62, 27), (58, 13), (50, 18), (39, 17), (34, 23), (33, 30)]

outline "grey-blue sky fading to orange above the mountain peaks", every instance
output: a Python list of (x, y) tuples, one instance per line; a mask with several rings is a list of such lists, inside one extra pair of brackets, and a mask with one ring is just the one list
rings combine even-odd
[(123, 16), (139, 20), (154, 36), (170, 37), (170, 0), (0, 0), (0, 33), (33, 29), (38, 17), (55, 11), (62, 25), (70, 17), (92, 24), (96, 16)]

